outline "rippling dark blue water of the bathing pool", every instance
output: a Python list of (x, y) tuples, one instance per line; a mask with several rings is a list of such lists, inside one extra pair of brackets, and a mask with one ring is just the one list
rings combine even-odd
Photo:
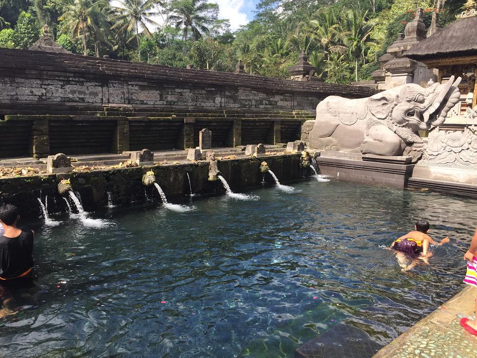
[[(187, 213), (159, 204), (92, 213), (103, 228), (26, 223), (37, 230), (40, 291), (0, 320), (2, 354), (293, 357), (339, 322), (383, 345), (463, 287), (476, 201), (293, 186), (254, 190), (259, 200), (198, 199)], [(418, 218), (452, 241), (410, 277), (383, 247)]]

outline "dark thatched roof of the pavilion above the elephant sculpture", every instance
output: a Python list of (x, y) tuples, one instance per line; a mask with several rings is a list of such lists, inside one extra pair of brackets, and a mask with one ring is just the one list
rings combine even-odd
[(477, 55), (477, 16), (458, 19), (446, 28), (423, 39), (408, 51), (404, 57), (417, 61), (443, 57)]

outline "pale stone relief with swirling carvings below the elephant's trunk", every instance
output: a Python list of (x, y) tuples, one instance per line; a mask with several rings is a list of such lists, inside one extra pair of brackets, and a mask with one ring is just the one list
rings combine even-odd
[(477, 131), (468, 127), (464, 132), (434, 130), (429, 133), (422, 164), (440, 167), (477, 169)]

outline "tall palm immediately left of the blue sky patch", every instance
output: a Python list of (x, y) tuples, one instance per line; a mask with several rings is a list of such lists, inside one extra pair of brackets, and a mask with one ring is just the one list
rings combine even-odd
[(185, 55), (189, 30), (195, 39), (201, 38), (202, 34), (208, 34), (209, 28), (206, 25), (212, 21), (209, 13), (218, 7), (217, 4), (209, 3), (207, 0), (177, 0), (171, 6), (175, 15), (169, 16), (169, 21), (175, 22), (176, 28), (184, 28), (183, 53)]

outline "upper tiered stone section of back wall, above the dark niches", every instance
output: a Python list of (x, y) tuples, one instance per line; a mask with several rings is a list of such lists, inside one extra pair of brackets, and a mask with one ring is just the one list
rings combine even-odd
[(10, 49), (0, 50), (0, 90), (0, 115), (79, 114), (52, 112), (94, 112), (95, 107), (110, 104), (129, 106), (131, 111), (134, 107), (314, 111), (330, 94), (353, 98), (374, 94), (344, 85)]

